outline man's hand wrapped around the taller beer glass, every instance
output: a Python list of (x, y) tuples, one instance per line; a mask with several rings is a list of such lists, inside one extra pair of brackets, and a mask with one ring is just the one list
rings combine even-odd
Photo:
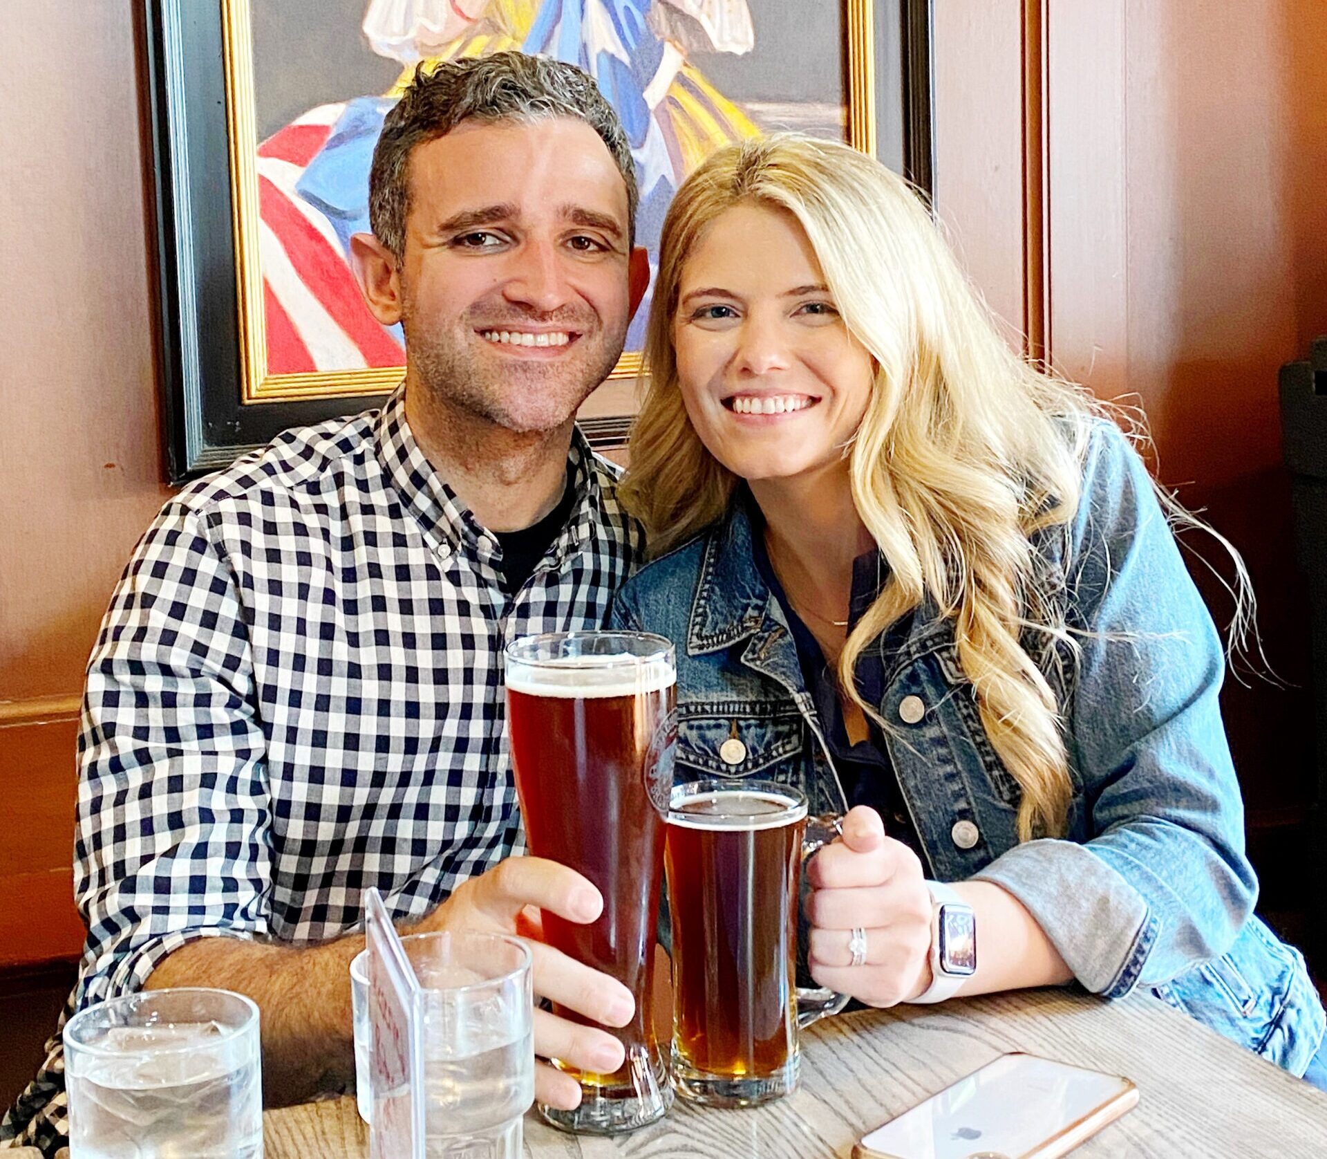
[[(414, 932), (467, 929), (525, 937), (536, 996), (605, 1026), (630, 1022), (636, 1010), (632, 992), (616, 978), (544, 945), (539, 940), (540, 909), (584, 925), (598, 917), (604, 899), (591, 882), (557, 862), (507, 858), (458, 886)], [(625, 1050), (612, 1034), (559, 1018), (548, 1010), (535, 1010), (535, 1054), (608, 1074), (622, 1065)], [(548, 1106), (572, 1110), (580, 1103), (580, 1083), (540, 1062), (535, 1071), (535, 1097)]]

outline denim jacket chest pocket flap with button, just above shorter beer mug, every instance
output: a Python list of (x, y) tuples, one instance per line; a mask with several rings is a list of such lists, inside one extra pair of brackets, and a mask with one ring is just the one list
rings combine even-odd
[(800, 713), (787, 704), (703, 701), (677, 709), (678, 781), (689, 774), (768, 774), (803, 751)]

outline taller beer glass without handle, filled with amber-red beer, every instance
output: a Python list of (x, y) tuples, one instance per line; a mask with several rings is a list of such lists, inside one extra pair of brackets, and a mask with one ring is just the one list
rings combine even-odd
[(650, 993), (675, 681), (673, 645), (662, 636), (557, 632), (507, 647), (507, 718), (525, 844), (532, 855), (584, 874), (604, 895), (597, 921), (576, 925), (545, 913), (544, 935), (618, 978), (636, 998), (630, 1025), (617, 1032), (626, 1047), (622, 1066), (613, 1074), (563, 1066), (580, 1079), (580, 1106), (539, 1106), (548, 1122), (572, 1131), (630, 1131), (673, 1101)]

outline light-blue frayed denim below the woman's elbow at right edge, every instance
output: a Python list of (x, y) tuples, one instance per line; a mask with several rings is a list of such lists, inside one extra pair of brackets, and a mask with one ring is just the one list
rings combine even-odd
[(1153, 993), (1291, 1074), (1303, 1074), (1322, 1040), (1322, 1005), (1303, 959), (1257, 917), (1221, 957)]

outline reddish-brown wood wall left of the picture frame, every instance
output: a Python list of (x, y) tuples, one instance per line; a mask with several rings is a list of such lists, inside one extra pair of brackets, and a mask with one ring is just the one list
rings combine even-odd
[(84, 665), (166, 497), (135, 8), (0, 4), (0, 965), (81, 948)]

